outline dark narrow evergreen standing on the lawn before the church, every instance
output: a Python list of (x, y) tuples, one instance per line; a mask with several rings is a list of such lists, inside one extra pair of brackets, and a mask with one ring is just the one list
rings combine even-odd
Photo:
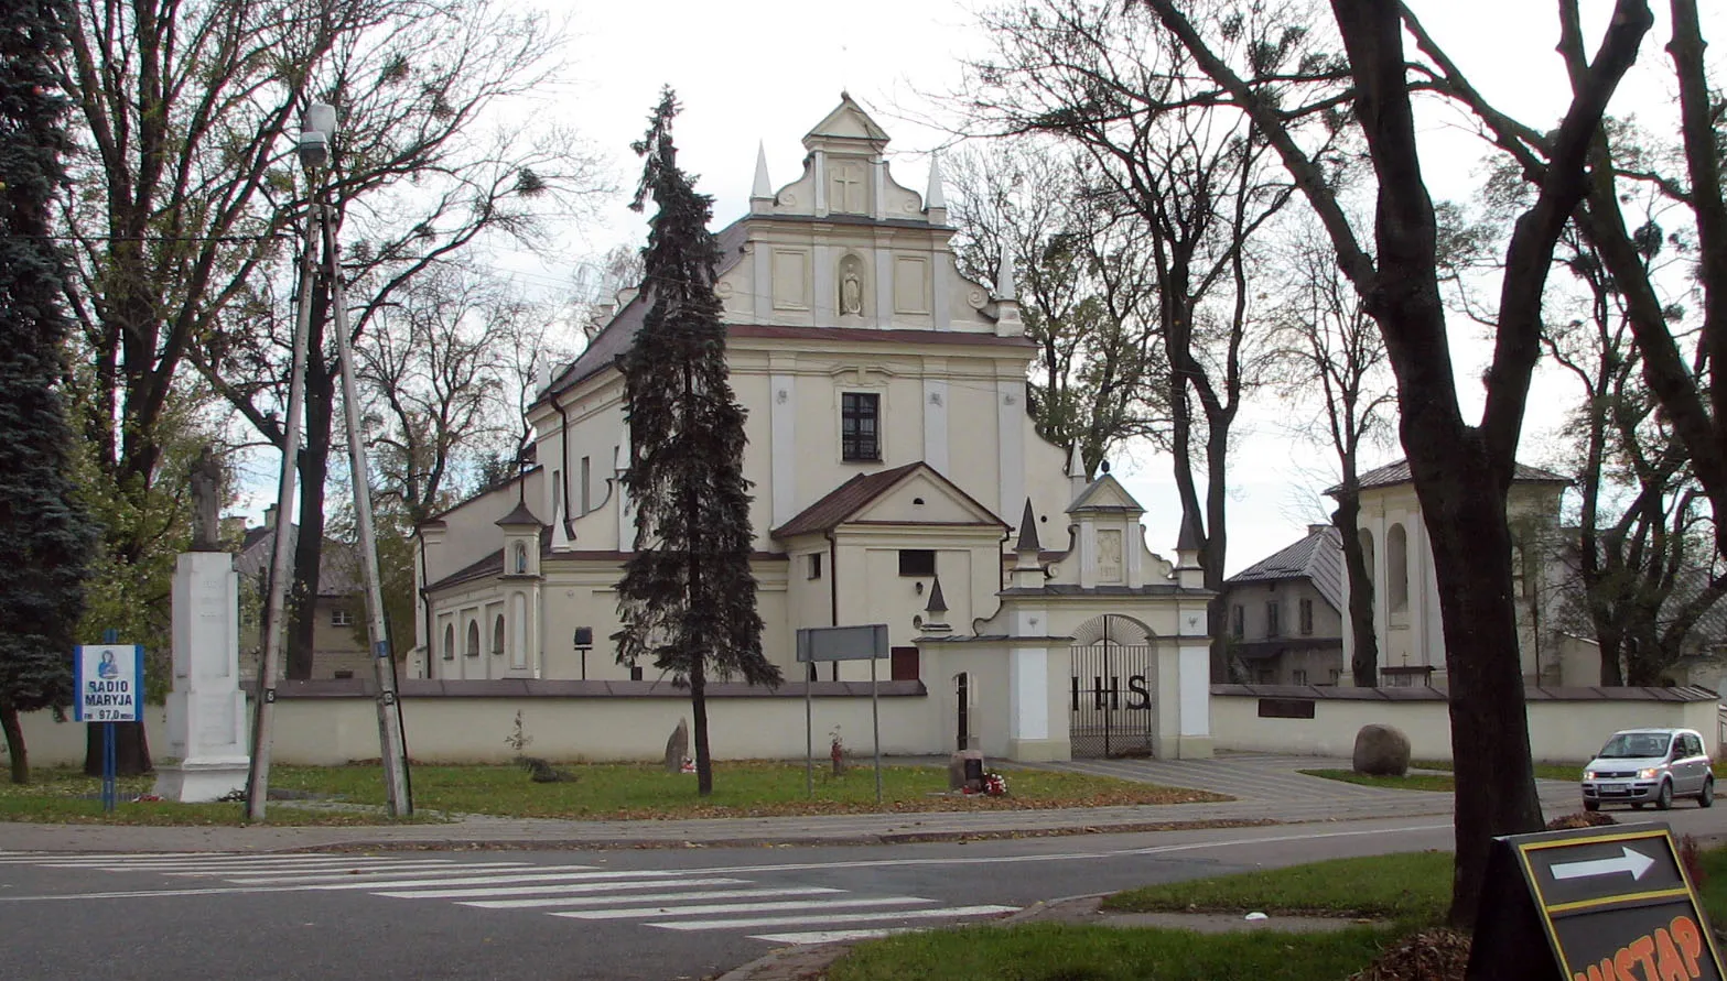
[(677, 167), (677, 98), (660, 95), (636, 202), (658, 207), (642, 250), (653, 298), (636, 343), (620, 357), (630, 426), (623, 486), (636, 505), (636, 553), (618, 584), (618, 660), (653, 660), (689, 686), (696, 783), (713, 793), (708, 676), (777, 686), (762, 655), (762, 617), (750, 572), (750, 491), (743, 476), (744, 409), (732, 398), (725, 328), (713, 291), (720, 247), (708, 231), (713, 198)]

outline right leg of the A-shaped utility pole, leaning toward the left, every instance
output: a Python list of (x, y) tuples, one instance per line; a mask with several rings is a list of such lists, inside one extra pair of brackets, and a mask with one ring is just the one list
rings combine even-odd
[(342, 407), (347, 417), (347, 462), (354, 479), (354, 524), (359, 533), (359, 559), (366, 574), (366, 622), (371, 633), (371, 664), (378, 678), (378, 755), (383, 759), (383, 784), (390, 817), (414, 812), (408, 797), (402, 757), (402, 719), (395, 698), (395, 671), (383, 622), (383, 586), (378, 581), (378, 540), (371, 528), (371, 478), (366, 472), (366, 438), (359, 424), (359, 393), (354, 384), (354, 343), (349, 338), (347, 293), (342, 288), (342, 260), (335, 240), (335, 216), (325, 210), (325, 255), (330, 257), (330, 305), (335, 310), (335, 350), (342, 364)]

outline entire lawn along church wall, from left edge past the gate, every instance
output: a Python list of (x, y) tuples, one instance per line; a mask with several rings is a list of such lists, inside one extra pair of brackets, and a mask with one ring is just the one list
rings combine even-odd
[[(668, 774), (649, 764), (566, 764), (573, 779), (534, 783), (515, 765), (416, 765), (411, 771), (414, 812), (421, 821), (444, 814), (566, 819), (756, 817), (796, 814), (865, 814), (876, 810), (876, 772), (851, 767), (834, 778), (815, 772), (815, 798), (805, 790), (801, 764), (717, 764), (713, 797), (696, 797), (693, 774)], [(121, 803), (102, 812), (102, 781), (79, 771), (38, 769), (24, 786), (0, 783), (0, 821), (107, 822), (107, 824), (242, 824), (238, 803), (138, 802), (155, 778), (119, 781)], [(1009, 795), (1000, 798), (952, 797), (945, 767), (884, 767), (884, 809), (924, 810), (1029, 810), (1048, 807), (1105, 807), (1124, 803), (1186, 803), (1230, 800), (1216, 793), (1166, 788), (1110, 778), (1014, 769)], [(290, 767), (269, 772), (271, 790), (304, 793), (314, 800), (383, 807), (383, 779), (376, 765)], [(332, 810), (271, 800), (273, 824), (382, 824), (370, 810)]]

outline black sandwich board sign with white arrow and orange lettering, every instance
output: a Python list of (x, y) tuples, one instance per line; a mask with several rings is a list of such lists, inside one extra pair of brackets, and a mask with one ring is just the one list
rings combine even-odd
[(1494, 838), (1468, 981), (1724, 981), (1665, 824)]

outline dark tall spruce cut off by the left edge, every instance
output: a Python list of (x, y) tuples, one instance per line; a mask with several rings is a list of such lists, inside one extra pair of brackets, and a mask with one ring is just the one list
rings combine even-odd
[(59, 381), (71, 324), (48, 224), (69, 105), (52, 59), (71, 19), (64, 0), (17, 0), (0, 22), (0, 728), (12, 783), (29, 781), (19, 712), (71, 703), (93, 541), (67, 478)]

